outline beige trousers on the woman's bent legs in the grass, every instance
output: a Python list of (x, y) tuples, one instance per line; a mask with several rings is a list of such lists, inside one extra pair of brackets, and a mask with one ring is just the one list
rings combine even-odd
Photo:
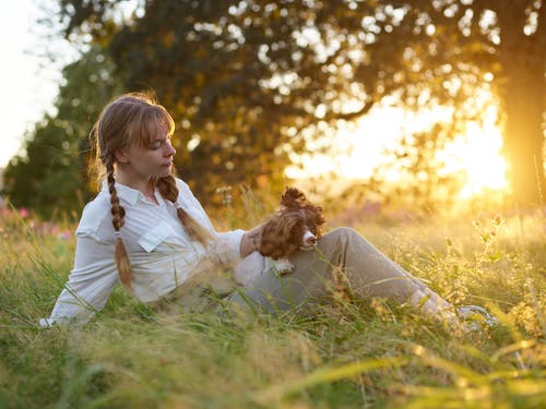
[[(393, 263), (351, 228), (335, 229), (322, 237), (317, 250), (290, 257), (295, 269), (284, 276), (265, 270), (227, 299), (228, 306), (269, 312), (299, 308), (332, 294), (343, 272), (353, 297), (380, 297), (420, 305), (427, 315), (453, 318), (452, 306)], [(341, 268), (340, 268), (341, 267)], [(334, 288), (333, 288), (334, 287)]]

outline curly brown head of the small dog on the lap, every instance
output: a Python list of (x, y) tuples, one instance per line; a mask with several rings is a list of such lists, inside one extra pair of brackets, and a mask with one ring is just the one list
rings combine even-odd
[(287, 188), (281, 206), (264, 224), (259, 251), (272, 258), (287, 257), (313, 245), (322, 234), (322, 208), (310, 203), (296, 188)]

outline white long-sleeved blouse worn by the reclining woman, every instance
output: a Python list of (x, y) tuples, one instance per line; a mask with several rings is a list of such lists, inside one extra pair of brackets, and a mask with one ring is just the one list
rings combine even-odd
[[(206, 250), (190, 239), (175, 206), (157, 190), (158, 204), (147, 201), (138, 190), (116, 183), (120, 204), (126, 209), (121, 234), (131, 261), (133, 294), (143, 302), (158, 300), (189, 277), (210, 268), (211, 261), (232, 268), (241, 260), (239, 248), (245, 231), (216, 232), (189, 187), (179, 179), (177, 187), (178, 202), (214, 238)], [(86, 323), (104, 308), (119, 280), (106, 182), (85, 206), (75, 236), (74, 267), (51, 316), (40, 320), (41, 326), (67, 321)]]

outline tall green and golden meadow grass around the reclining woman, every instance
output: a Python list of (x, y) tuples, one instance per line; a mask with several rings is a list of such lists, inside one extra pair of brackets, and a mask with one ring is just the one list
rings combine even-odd
[[(339, 213), (329, 227), (358, 216)], [(58, 231), (74, 226), (4, 212), (0, 408), (543, 407), (544, 221), (537, 212), (352, 222), (454, 304), (480, 304), (500, 320), (455, 337), (381, 300), (221, 317), (154, 311), (121, 288), (88, 325), (40, 329), (73, 258), (73, 238)]]

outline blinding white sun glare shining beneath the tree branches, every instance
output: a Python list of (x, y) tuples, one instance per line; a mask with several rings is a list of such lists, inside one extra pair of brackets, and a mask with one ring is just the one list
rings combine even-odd
[[(296, 179), (334, 175), (344, 179), (365, 180), (377, 167), (390, 160), (388, 153), (399, 146), (404, 132), (419, 132), (432, 121), (448, 118), (449, 112), (441, 109), (419, 115), (399, 108), (372, 110), (367, 117), (332, 135), (334, 142), (328, 154), (294, 157), (299, 167), (290, 167), (286, 173)], [(444, 164), (444, 168), (438, 169), (438, 172), (464, 175), (465, 184), (459, 193), (462, 199), (472, 197), (484, 190), (507, 188), (506, 163), (500, 155), (502, 139), (496, 118), (496, 109), (488, 108), (482, 124), (468, 123), (465, 134), (438, 153), (438, 159)], [(385, 178), (388, 182), (396, 182), (401, 176), (393, 170)]]

